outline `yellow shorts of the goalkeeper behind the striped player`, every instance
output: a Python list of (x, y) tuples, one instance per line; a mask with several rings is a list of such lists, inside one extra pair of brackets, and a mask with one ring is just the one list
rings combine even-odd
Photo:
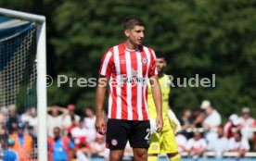
[(148, 154), (172, 154), (178, 152), (173, 129), (151, 134)]

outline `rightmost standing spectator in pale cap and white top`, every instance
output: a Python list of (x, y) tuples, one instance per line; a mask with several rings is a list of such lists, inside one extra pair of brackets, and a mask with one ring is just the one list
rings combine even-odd
[(238, 130), (241, 130), (242, 135), (248, 141), (253, 140), (253, 132), (248, 131), (253, 125), (253, 118), (250, 118), (250, 109), (248, 107), (243, 107), (242, 109), (242, 117), (239, 118), (240, 126), (237, 127)]

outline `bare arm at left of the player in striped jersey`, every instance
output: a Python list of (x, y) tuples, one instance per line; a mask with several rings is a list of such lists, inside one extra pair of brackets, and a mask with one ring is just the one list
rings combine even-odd
[(106, 122), (103, 118), (103, 105), (108, 82), (109, 77), (101, 76), (96, 88), (96, 131), (100, 134), (104, 134), (106, 131)]

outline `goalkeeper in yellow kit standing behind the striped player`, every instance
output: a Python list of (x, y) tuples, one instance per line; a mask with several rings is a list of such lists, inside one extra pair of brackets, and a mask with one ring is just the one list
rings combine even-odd
[(162, 118), (163, 128), (157, 133), (156, 121), (157, 111), (153, 100), (150, 84), (147, 83), (147, 105), (150, 116), (150, 145), (148, 148), (148, 161), (157, 161), (158, 155), (166, 154), (172, 161), (180, 161), (181, 156), (178, 153), (177, 143), (175, 141), (174, 131), (180, 128), (179, 121), (169, 107), (169, 95), (171, 92), (171, 80), (169, 76), (162, 73), (166, 67), (164, 55), (156, 52), (156, 63), (159, 73), (160, 88), (162, 93)]

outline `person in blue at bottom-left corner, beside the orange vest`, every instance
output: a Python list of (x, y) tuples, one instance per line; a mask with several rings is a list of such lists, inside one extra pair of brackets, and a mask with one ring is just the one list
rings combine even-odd
[(3, 161), (18, 161), (18, 154), (13, 150), (14, 140), (8, 138), (5, 143), (5, 151), (3, 153)]

